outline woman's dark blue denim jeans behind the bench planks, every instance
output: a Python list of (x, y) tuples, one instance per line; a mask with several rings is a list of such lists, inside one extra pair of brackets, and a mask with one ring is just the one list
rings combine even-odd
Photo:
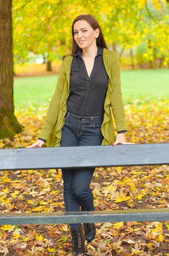
[[(61, 147), (101, 145), (103, 116), (76, 116), (66, 112), (62, 127)], [(61, 169), (63, 197), (67, 212), (94, 211), (90, 182), (95, 168)], [(81, 223), (69, 224), (78, 227)]]

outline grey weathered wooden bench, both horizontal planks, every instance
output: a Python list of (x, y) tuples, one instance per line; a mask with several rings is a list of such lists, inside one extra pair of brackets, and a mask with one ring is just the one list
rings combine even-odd
[[(169, 143), (0, 149), (2, 171), (168, 164)], [(0, 214), (0, 225), (166, 220), (169, 208)]]

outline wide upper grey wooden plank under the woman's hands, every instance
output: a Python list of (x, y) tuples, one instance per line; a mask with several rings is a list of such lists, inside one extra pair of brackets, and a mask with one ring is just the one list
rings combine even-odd
[(0, 149), (0, 170), (169, 164), (169, 143)]

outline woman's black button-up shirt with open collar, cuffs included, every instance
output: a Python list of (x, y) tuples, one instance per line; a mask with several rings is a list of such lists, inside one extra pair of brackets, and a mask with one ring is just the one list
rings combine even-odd
[[(72, 54), (70, 69), (70, 94), (66, 102), (69, 113), (77, 116), (101, 116), (104, 114), (109, 77), (104, 67), (103, 49), (97, 47), (93, 70), (88, 76), (82, 49)], [(126, 130), (118, 131), (124, 133)], [(45, 142), (44, 139), (38, 138)]]

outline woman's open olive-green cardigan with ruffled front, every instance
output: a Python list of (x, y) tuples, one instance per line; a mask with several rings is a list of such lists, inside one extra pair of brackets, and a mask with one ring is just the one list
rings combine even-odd
[[(39, 137), (47, 140), (48, 147), (60, 147), (62, 127), (65, 122), (66, 102), (70, 93), (70, 67), (73, 56), (69, 55), (62, 62), (57, 79), (56, 90), (51, 98), (44, 125)], [(101, 132), (104, 136), (101, 145), (112, 145), (115, 142), (113, 117), (117, 131), (127, 130), (124, 105), (121, 95), (120, 62), (118, 54), (103, 49), (103, 61), (109, 83), (104, 102), (104, 119)], [(112, 116), (113, 113), (113, 116)], [(107, 171), (107, 168), (104, 168)], [(58, 170), (57, 170), (58, 171)]]

